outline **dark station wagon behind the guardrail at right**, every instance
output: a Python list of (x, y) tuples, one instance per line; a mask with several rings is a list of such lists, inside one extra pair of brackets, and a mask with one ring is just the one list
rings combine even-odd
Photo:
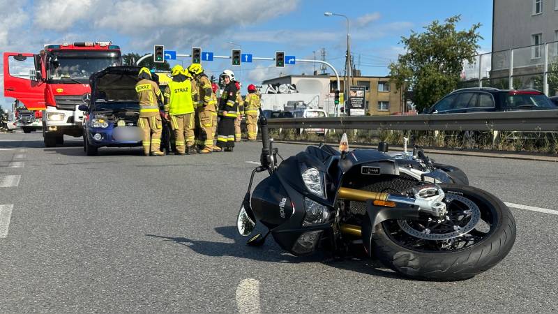
[(545, 94), (534, 89), (470, 88), (452, 91), (423, 114), (557, 109)]

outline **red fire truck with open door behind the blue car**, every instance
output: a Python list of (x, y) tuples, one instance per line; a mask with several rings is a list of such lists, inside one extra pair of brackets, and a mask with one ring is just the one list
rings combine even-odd
[(109, 66), (121, 66), (120, 47), (110, 42), (45, 45), (38, 54), (3, 54), (4, 96), (28, 110), (43, 112), (45, 147), (63, 144), (63, 135), (83, 135), (83, 112), (89, 103), (89, 76)]

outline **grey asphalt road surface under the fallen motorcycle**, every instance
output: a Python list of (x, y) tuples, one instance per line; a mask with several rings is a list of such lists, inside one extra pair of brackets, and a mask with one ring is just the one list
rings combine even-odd
[[(283, 157), (303, 149), (278, 144)], [(0, 135), (0, 312), (556, 312), (558, 215), (511, 209), (511, 253), (468, 281), (409, 281), (374, 260), (294, 257), (244, 245), (235, 216), (246, 161), (234, 153), (84, 156), (81, 139), (43, 148)], [(556, 163), (431, 155), (504, 202), (558, 210)], [(18, 177), (20, 176), (20, 177)], [(258, 179), (264, 178), (259, 174)]]

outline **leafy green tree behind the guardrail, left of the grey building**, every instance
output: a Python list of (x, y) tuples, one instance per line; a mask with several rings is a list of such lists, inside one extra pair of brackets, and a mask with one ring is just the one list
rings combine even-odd
[(389, 65), (390, 76), (398, 89), (413, 90), (417, 110), (430, 107), (458, 87), (463, 62), (474, 62), (478, 40), (482, 39), (477, 32), (481, 24), (458, 31), (455, 24), (460, 20), (460, 15), (444, 23), (436, 20), (423, 33), (412, 31), (408, 38), (401, 38), (406, 52)]

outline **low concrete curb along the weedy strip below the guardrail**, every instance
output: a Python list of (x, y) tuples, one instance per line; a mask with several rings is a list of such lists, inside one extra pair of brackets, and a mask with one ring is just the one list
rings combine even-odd
[[(294, 142), (294, 141), (274, 141), (275, 143), (282, 144), (298, 144), (298, 145), (317, 145), (319, 142)], [(326, 143), (331, 145), (337, 145), (337, 143)], [(349, 144), (350, 147), (360, 148), (360, 149), (370, 149), (376, 148), (372, 145), (363, 144)], [(403, 149), (402, 146), (390, 146), (390, 150), (393, 148)], [(454, 156), (470, 156), (470, 157), (487, 157), (487, 158), (505, 158), (505, 159), (516, 159), (516, 160), (535, 160), (535, 161), (548, 161), (550, 163), (558, 163), (558, 155), (534, 155), (534, 154), (520, 154), (505, 151), (456, 151), (451, 149), (435, 149), (435, 148), (423, 148), (425, 153), (429, 154), (442, 154), (442, 155), (454, 155)]]

